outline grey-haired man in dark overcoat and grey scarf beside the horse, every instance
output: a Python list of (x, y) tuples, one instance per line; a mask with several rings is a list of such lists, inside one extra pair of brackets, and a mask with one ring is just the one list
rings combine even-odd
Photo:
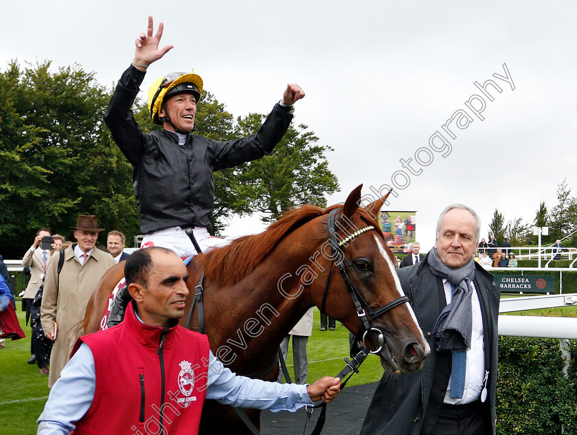
[(361, 435), (495, 434), (500, 292), (473, 260), (478, 240), (477, 214), (451, 205), (425, 260), (398, 270), (433, 351), (420, 372), (385, 372)]

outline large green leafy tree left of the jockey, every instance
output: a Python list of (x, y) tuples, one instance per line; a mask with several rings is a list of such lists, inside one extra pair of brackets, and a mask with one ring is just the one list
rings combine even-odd
[[(110, 94), (80, 66), (50, 61), (0, 73), (3, 167), (0, 234), (18, 258), (38, 227), (71, 238), (78, 214), (96, 214), (106, 230), (137, 231), (131, 168), (104, 128)], [(104, 240), (100, 240), (103, 244)]]

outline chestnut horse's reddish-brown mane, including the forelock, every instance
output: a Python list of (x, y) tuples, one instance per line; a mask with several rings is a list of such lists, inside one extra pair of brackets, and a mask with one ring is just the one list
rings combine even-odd
[[(284, 213), (264, 232), (236, 238), (229, 245), (200, 254), (194, 259), (195, 263), (203, 269), (205, 276), (214, 280), (218, 287), (234, 285), (247, 277), (284, 236), (316, 217), (340, 207), (342, 204), (336, 204), (323, 210), (316, 205), (301, 205)], [(378, 228), (378, 223), (366, 210), (359, 208), (357, 213), (367, 223)], [(384, 240), (383, 233), (381, 231), (377, 233)]]

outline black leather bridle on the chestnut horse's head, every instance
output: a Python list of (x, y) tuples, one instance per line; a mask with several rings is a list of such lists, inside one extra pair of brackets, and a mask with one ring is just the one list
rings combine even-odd
[[(332, 251), (332, 262), (330, 263), (330, 269), (328, 270), (328, 275), (326, 277), (326, 283), (325, 283), (324, 292), (323, 292), (323, 300), (321, 303), (321, 311), (323, 313), (326, 312), (325, 311), (325, 304), (326, 304), (326, 294), (328, 291), (328, 281), (330, 280), (330, 271), (332, 270), (332, 265), (335, 263), (335, 258), (337, 256), (337, 252), (341, 251), (341, 247), (343, 245), (346, 245), (346, 243), (353, 241), (354, 238), (356, 238), (357, 236), (363, 234), (364, 232), (375, 230), (374, 225), (367, 225), (366, 227), (363, 227), (360, 230), (355, 231), (354, 233), (348, 234), (341, 241), (339, 241), (337, 239), (337, 226), (335, 224), (335, 221), (337, 219), (337, 213), (339, 212), (339, 210), (341, 210), (341, 208), (335, 208), (335, 210), (332, 210), (328, 214), (327, 226), (328, 226), (328, 237), (329, 237), (330, 249)], [(403, 295), (400, 298), (398, 298), (392, 302), (389, 302), (388, 304), (386, 304), (384, 306), (381, 306), (380, 308), (376, 309), (376, 311), (373, 311), (371, 309), (371, 307), (369, 306), (369, 304), (367, 304), (367, 302), (365, 301), (365, 299), (363, 298), (361, 293), (359, 293), (359, 290), (357, 290), (357, 287), (354, 287), (354, 283), (352, 282), (352, 280), (351, 280), (351, 278), (347, 272), (347, 268), (344, 264), (344, 258), (343, 258), (343, 260), (341, 260), (337, 263), (337, 266), (339, 267), (339, 271), (341, 272), (341, 276), (343, 277), (343, 281), (345, 282), (347, 291), (348, 291), (348, 293), (352, 299), (352, 303), (354, 304), (354, 308), (357, 310), (357, 315), (359, 316), (359, 318), (361, 319), (361, 322), (363, 323), (364, 329), (362, 329), (361, 331), (359, 331), (357, 333), (357, 337), (359, 337), (361, 335), (361, 333), (363, 334), (361, 342), (363, 343), (363, 346), (366, 347), (365, 337), (366, 337), (367, 333), (369, 333), (370, 331), (377, 333), (378, 349), (372, 350), (372, 351), (370, 351), (370, 353), (379, 353), (379, 352), (381, 352), (381, 350), (383, 349), (383, 346), (385, 345), (385, 336), (383, 335), (383, 332), (380, 329), (372, 327), (370, 325), (370, 322), (372, 322), (372, 320), (374, 320), (379, 315), (386, 313), (389, 310), (394, 309), (395, 306), (400, 305), (400, 304), (404, 304), (405, 302), (409, 302), (409, 298), (407, 298), (407, 296)], [(364, 306), (364, 308), (363, 308), (363, 306)]]

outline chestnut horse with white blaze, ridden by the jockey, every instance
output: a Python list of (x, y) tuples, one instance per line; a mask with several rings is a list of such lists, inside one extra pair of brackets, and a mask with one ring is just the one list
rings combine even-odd
[[(237, 238), (190, 262), (186, 312), (203, 276), (205, 333), (212, 353), (233, 372), (275, 381), (280, 342), (311, 306), (359, 337), (363, 333), (365, 346), (381, 358), (383, 368), (400, 373), (422, 367), (429, 346), (376, 222), (386, 197), (361, 207), (361, 187), (344, 205), (297, 207), (264, 232)], [(123, 276), (119, 264), (102, 277), (87, 307), (85, 333), (98, 331), (106, 301)], [(198, 305), (189, 328), (200, 331)], [(259, 427), (260, 410), (245, 411)], [(233, 408), (207, 401), (199, 433), (251, 432)]]

